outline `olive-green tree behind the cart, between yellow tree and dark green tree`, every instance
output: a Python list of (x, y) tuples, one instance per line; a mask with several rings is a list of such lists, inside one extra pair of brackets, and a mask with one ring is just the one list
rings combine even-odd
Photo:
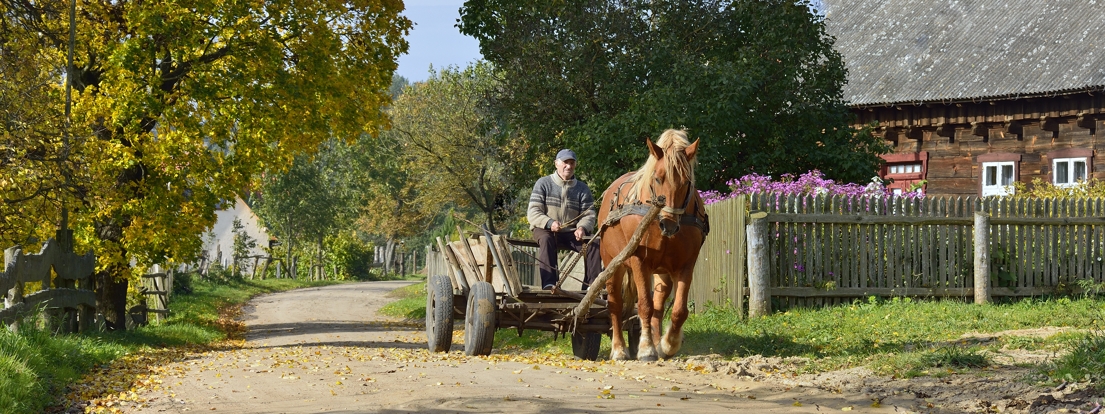
[(420, 202), (478, 210), (492, 232), (515, 214), (519, 189), (534, 179), (526, 173), (529, 141), (490, 107), (501, 83), (486, 63), (446, 67), (408, 87), (390, 112)]

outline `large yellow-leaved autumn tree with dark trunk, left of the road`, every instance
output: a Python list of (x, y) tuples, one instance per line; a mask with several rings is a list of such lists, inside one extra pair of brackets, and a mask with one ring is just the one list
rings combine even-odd
[[(0, 0), (0, 15), (60, 54), (69, 30), (60, 4)], [(387, 125), (387, 87), (410, 28), (401, 9), (382, 0), (78, 4), (73, 129), (88, 149), (76, 156), (90, 181), (74, 222), (96, 250), (109, 328), (123, 328), (131, 258), (190, 259), (220, 199), (332, 137)]]

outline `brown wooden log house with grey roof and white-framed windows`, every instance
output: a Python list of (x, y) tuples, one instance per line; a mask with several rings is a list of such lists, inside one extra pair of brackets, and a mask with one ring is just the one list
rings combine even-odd
[(932, 195), (1105, 179), (1105, 2), (824, 0), (881, 177)]

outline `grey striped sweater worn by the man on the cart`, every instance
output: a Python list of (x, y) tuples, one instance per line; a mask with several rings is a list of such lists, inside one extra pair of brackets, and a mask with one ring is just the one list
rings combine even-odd
[[(569, 220), (579, 221), (568, 224)], [(552, 221), (558, 221), (565, 230), (583, 227), (587, 234), (594, 234), (594, 197), (587, 183), (571, 179), (561, 180), (556, 172), (541, 177), (529, 193), (529, 208), (526, 210), (529, 227), (548, 229)]]

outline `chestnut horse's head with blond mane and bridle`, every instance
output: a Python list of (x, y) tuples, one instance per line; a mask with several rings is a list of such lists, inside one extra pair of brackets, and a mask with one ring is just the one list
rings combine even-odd
[[(669, 129), (660, 136), (656, 144), (648, 140), (652, 177), (641, 177), (650, 180), (649, 189), (654, 197), (664, 195), (666, 206), (660, 212), (660, 232), (671, 237), (680, 231), (680, 219), (691, 204), (694, 189), (694, 156), (698, 150), (698, 140), (688, 145), (687, 135), (683, 130)], [(652, 162), (652, 160), (655, 162)], [(639, 181), (640, 182), (640, 181)], [(643, 187), (643, 185), (641, 185)]]

